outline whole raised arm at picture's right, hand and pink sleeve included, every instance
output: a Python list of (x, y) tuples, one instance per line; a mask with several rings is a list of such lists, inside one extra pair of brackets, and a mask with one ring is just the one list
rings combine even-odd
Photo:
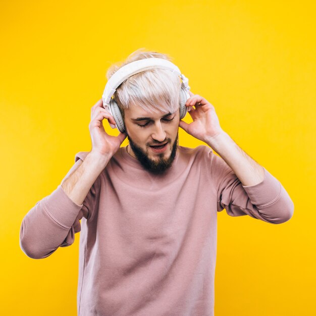
[(274, 224), (288, 221), (294, 204), (282, 184), (224, 132), (213, 104), (189, 93), (186, 106), (193, 122), (180, 121), (179, 126), (221, 156), (210, 157), (210, 177), (218, 188), (218, 211), (226, 208), (231, 216), (249, 215)]

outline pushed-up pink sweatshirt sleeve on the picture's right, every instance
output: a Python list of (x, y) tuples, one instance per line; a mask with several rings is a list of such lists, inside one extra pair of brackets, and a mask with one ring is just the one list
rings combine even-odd
[(210, 174), (216, 183), (218, 212), (225, 208), (230, 216), (249, 215), (272, 224), (281, 224), (292, 218), (293, 201), (280, 181), (266, 168), (264, 180), (245, 186), (222, 157), (212, 151), (208, 154)]

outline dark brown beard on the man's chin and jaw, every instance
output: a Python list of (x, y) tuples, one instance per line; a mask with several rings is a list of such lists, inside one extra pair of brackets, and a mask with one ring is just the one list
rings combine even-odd
[[(160, 153), (158, 155), (159, 160), (157, 160), (157, 161), (153, 161), (153, 160), (149, 159), (148, 154), (145, 151), (143, 151), (143, 149), (141, 149), (139, 146), (137, 146), (133, 142), (133, 140), (129, 137), (128, 134), (127, 134), (127, 138), (129, 140), (129, 144), (130, 144), (136, 158), (138, 159), (140, 164), (144, 167), (144, 169), (146, 169), (147, 171), (149, 171), (153, 174), (162, 174), (172, 166), (172, 163), (175, 160), (177, 149), (178, 149), (179, 132), (177, 133), (177, 137), (172, 145), (170, 157), (165, 159), (164, 153)], [(167, 138), (167, 141), (168, 141), (168, 144), (171, 144), (170, 138)]]

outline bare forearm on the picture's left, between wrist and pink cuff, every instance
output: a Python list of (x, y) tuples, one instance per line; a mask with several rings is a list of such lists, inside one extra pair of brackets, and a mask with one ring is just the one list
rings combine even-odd
[(62, 188), (69, 198), (81, 205), (94, 181), (107, 166), (111, 156), (100, 156), (90, 152), (83, 163), (62, 182)]

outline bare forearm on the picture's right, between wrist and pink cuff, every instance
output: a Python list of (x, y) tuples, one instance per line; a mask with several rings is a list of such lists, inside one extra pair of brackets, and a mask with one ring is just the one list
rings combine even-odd
[(265, 171), (234, 140), (222, 132), (206, 141), (233, 169), (242, 185), (256, 185), (264, 180)]

